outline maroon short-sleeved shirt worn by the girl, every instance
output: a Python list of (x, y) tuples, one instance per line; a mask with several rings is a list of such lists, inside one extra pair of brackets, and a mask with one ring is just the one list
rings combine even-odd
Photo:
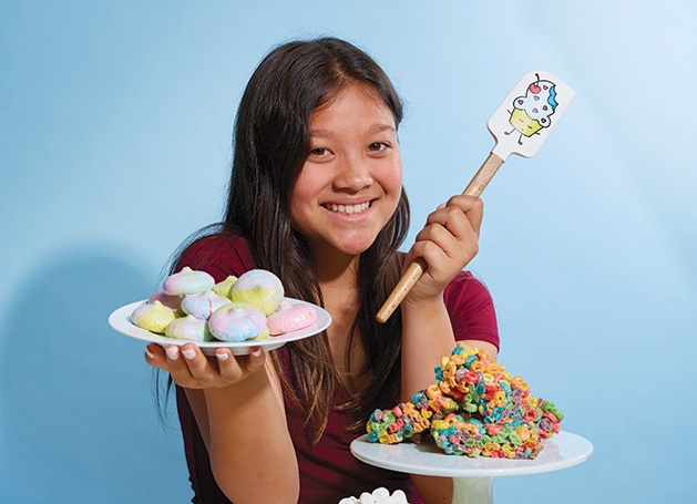
[[(240, 276), (255, 267), (254, 259), (244, 238), (229, 235), (213, 235), (191, 245), (182, 255), (176, 269), (188, 266), (211, 274), (216, 281), (227, 276)], [(499, 332), (493, 301), (486, 288), (468, 271), (461, 271), (445, 288), (443, 298), (455, 339), (475, 339), (499, 347)], [(184, 438), (184, 450), (194, 491), (195, 504), (227, 504), (217, 486), (211, 470), (208, 453), (196, 425), (192, 409), (184, 391), (176, 388), (177, 411)], [(348, 400), (342, 387), (335, 397), (334, 404)], [(382, 405), (381, 408), (389, 408)], [(303, 504), (332, 504), (342, 497), (359, 496), (385, 486), (390, 492), (401, 488), (410, 504), (420, 504), (408, 474), (368, 465), (353, 457), (349, 444), (356, 434), (348, 432), (355, 422), (350, 413), (334, 409), (327, 429), (319, 443), (310, 449), (303, 434), (301, 412), (286, 401), (288, 429), (293, 435), (300, 473), (300, 498)], [(363, 419), (367, 420), (367, 419)]]

